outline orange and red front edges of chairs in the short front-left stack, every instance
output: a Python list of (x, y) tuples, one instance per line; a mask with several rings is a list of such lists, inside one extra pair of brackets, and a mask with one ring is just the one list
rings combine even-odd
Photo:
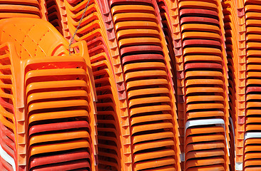
[[(91, 89), (86, 63), (74, 56), (58, 61), (59, 57), (27, 64), (29, 167), (31, 170), (91, 170), (94, 141), (89, 123), (94, 106), (92, 99), (86, 98)], [(54, 67), (45, 69), (46, 62)]]

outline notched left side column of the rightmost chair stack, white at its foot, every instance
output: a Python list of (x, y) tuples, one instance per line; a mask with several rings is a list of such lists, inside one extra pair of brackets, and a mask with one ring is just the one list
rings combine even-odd
[(237, 0), (238, 21), (238, 88), (237, 88), (237, 125), (235, 128), (235, 170), (242, 170), (246, 115), (246, 28), (244, 0)]

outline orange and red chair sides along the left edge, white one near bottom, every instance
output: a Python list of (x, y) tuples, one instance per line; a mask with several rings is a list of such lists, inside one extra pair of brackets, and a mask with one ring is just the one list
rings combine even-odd
[(5, 43), (0, 46), (1, 68), (1, 95), (0, 95), (0, 169), (16, 170), (16, 94), (14, 81), (14, 67), (11, 66), (10, 45)]

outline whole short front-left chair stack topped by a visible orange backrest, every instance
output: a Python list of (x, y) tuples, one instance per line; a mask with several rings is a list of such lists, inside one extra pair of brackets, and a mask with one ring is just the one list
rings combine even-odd
[(40, 19), (4, 19), (0, 31), (1, 168), (96, 170), (86, 43), (73, 44), (79, 52), (68, 56), (65, 39)]

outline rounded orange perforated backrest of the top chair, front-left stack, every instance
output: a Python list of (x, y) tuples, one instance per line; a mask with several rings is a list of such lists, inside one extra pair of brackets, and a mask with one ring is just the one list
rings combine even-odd
[(21, 59), (68, 55), (68, 42), (54, 26), (41, 19), (0, 21), (0, 43), (13, 42)]

